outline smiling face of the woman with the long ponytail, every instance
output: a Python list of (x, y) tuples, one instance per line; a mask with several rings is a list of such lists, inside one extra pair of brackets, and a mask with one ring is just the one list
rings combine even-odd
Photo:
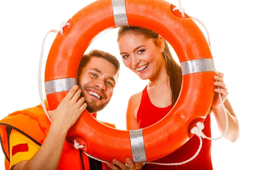
[(163, 38), (159, 36), (157, 43), (158, 45), (153, 39), (140, 34), (126, 33), (119, 37), (119, 51), (123, 62), (140, 79), (150, 79), (163, 69)]

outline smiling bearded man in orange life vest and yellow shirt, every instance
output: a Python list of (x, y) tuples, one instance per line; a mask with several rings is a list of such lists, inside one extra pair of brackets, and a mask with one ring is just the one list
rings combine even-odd
[(81, 59), (78, 85), (70, 89), (55, 110), (49, 111), (51, 124), (41, 105), (2, 119), (0, 142), (6, 170), (106, 170), (105, 163), (88, 158), (65, 138), (85, 108), (95, 114), (108, 105), (119, 67), (116, 57), (92, 50)]

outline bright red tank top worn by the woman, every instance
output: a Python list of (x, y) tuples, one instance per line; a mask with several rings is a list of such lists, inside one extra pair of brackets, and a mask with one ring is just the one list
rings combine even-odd
[[(172, 105), (166, 108), (157, 108), (154, 106), (148, 96), (147, 86), (143, 90), (140, 107), (137, 113), (137, 122), (140, 128), (145, 128), (163, 119), (172, 109)], [(208, 115), (204, 121), (204, 134), (211, 137), (211, 119)], [(200, 141), (197, 136), (193, 136), (182, 147), (173, 153), (155, 160), (160, 163), (179, 163), (190, 159), (198, 150)], [(157, 165), (145, 164), (143, 170), (212, 170), (211, 159), (211, 141), (203, 139), (202, 148), (195, 159), (182, 165)]]

